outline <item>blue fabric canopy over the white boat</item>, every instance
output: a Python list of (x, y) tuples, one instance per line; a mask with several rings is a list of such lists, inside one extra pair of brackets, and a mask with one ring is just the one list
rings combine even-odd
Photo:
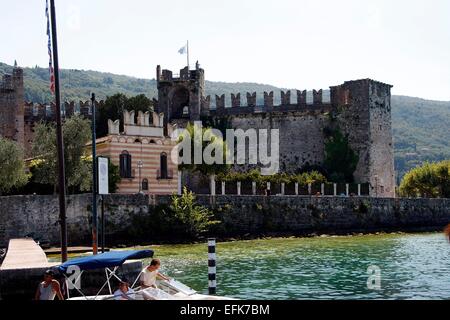
[(153, 250), (110, 251), (94, 256), (69, 260), (58, 266), (58, 270), (66, 273), (70, 266), (78, 266), (81, 271), (121, 266), (127, 260), (153, 257)]

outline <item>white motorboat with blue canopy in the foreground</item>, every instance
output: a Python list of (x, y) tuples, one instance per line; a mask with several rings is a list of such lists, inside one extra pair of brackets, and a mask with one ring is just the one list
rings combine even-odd
[[(111, 279), (115, 278), (122, 281), (117, 275), (118, 268), (127, 260), (137, 260), (151, 257), (153, 257), (152, 250), (110, 251), (89, 257), (69, 260), (56, 268), (58, 272), (64, 275), (66, 279), (65, 287), (67, 288), (68, 300), (115, 300), (116, 296), (114, 296), (111, 289)], [(81, 278), (84, 271), (96, 269), (105, 269), (106, 281), (95, 296), (85, 295), (79, 288), (73, 285), (73, 276), (69, 278), (69, 275), (67, 274), (68, 271), (69, 273), (73, 272), (73, 270), (79, 271), (79, 274), (75, 279), (76, 281)], [(175, 279), (170, 279), (168, 281), (158, 280), (157, 288), (141, 289), (136, 286), (141, 273), (139, 273), (131, 285), (134, 292), (127, 295), (129, 300), (235, 300), (228, 297), (200, 294)], [(70, 287), (77, 290), (81, 296), (71, 298), (69, 291)], [(108, 287), (109, 294), (100, 294), (105, 287)]]

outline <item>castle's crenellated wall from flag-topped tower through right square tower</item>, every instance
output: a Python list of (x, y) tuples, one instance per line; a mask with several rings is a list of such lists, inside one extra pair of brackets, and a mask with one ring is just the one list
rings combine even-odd
[[(157, 108), (166, 114), (166, 121), (179, 127), (198, 121), (200, 113), (200, 119), (228, 123), (232, 129), (279, 129), (281, 172), (323, 165), (325, 131), (339, 128), (359, 156), (355, 182), (369, 183), (371, 196), (395, 196), (390, 85), (370, 79), (348, 81), (330, 87), (330, 101), (325, 101), (323, 90), (313, 90), (312, 99), (306, 90), (281, 91), (279, 104), (275, 104), (274, 92), (264, 92), (263, 100), (256, 92), (235, 93), (230, 95), (231, 106), (226, 106), (225, 95), (202, 95), (203, 69), (188, 72), (185, 68), (175, 78), (158, 66), (157, 81)], [(248, 153), (258, 151), (255, 145), (260, 143), (250, 145)], [(253, 167), (246, 162), (234, 169)]]

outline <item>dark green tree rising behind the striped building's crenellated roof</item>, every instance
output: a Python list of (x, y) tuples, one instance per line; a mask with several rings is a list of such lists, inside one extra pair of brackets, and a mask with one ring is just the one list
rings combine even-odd
[(97, 137), (108, 135), (108, 120), (120, 120), (120, 131), (123, 131), (123, 112), (136, 111), (135, 117), (139, 111), (147, 112), (153, 110), (153, 102), (145, 95), (140, 94), (128, 98), (122, 93), (117, 93), (107, 97), (104, 104), (98, 108), (98, 117), (96, 122)]

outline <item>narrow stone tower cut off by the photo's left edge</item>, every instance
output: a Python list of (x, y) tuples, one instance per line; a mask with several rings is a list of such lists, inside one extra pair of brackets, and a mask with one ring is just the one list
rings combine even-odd
[(14, 64), (12, 74), (0, 82), (0, 136), (24, 145), (23, 69)]

